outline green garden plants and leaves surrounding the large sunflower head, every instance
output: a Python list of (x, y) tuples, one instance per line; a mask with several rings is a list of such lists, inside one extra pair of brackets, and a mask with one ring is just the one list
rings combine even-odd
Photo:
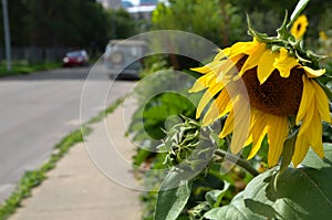
[[(252, 40), (247, 34), (246, 13), (249, 14), (252, 28), (268, 35), (276, 35), (276, 29), (282, 23), (284, 10), (289, 11), (290, 17), (297, 4), (291, 1), (251, 0), (249, 2), (169, 0), (168, 2), (168, 6), (159, 4), (154, 11), (152, 20), (154, 30), (170, 29), (197, 33), (220, 48), (230, 46), (238, 41)], [(321, 61), (321, 65), (315, 67), (326, 69), (325, 75), (317, 82), (330, 98), (330, 109), (331, 11), (331, 4), (325, 1), (311, 1), (308, 4), (303, 13), (309, 19), (309, 27), (307, 32), (304, 31), (305, 35), (301, 44), (301, 46), (305, 45), (305, 49), (328, 55)], [(299, 30), (304, 27), (302, 24), (298, 27)], [(252, 159), (247, 160), (253, 144), (243, 148), (239, 156), (232, 157), (227, 151), (232, 136), (218, 137), (220, 128), (226, 126), (229, 116), (219, 116), (218, 119), (216, 115), (211, 116), (216, 117), (215, 124), (203, 126), (204, 119), (196, 117), (196, 107), (203, 93), (186, 93), (187, 87), (178, 83), (181, 82), (183, 76), (173, 71), (181, 71), (198, 78), (201, 75), (190, 71), (190, 67), (197, 67), (198, 64), (193, 62), (188, 65), (188, 62), (183, 62), (183, 57), (174, 54), (148, 57), (146, 69), (141, 74), (144, 77), (135, 91), (138, 107), (132, 118), (128, 135), (135, 143), (141, 144), (134, 156), (133, 166), (139, 182), (146, 187), (146, 191), (141, 195), (142, 219), (310, 219), (313, 217), (323, 219), (331, 216), (332, 193), (328, 187), (332, 179), (331, 124), (323, 123), (322, 133), (318, 135), (319, 138), (322, 136), (321, 147), (325, 151), (323, 160), (313, 150), (309, 150), (302, 161), (303, 167), (295, 168), (290, 165), (297, 133), (290, 133), (287, 137), (287, 142), (282, 145), (284, 151), (280, 163), (272, 168), (269, 166), (271, 161), (268, 156), (271, 149), (269, 134), (263, 136), (260, 148)], [(195, 82), (187, 83), (194, 85)], [(160, 87), (176, 93), (165, 92), (153, 95)], [(212, 96), (216, 98), (220, 93), (214, 93)], [(210, 106), (211, 102), (207, 103), (207, 106)], [(201, 114), (207, 112), (214, 114), (209, 109), (203, 111)], [(236, 159), (235, 166), (225, 166), (226, 158)], [(204, 164), (204, 161), (209, 163)], [(200, 166), (205, 168), (193, 175), (191, 179), (184, 178)], [(311, 179), (301, 179), (302, 176)], [(314, 181), (313, 185), (310, 184), (311, 180)], [(301, 189), (293, 193), (298, 187)], [(282, 203), (282, 199), (292, 203), (293, 208)]]

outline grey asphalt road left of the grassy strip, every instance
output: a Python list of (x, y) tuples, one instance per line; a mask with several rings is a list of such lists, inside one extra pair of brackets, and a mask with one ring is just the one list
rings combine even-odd
[(54, 145), (80, 127), (80, 106), (86, 122), (133, 87), (129, 81), (113, 83), (103, 70), (60, 69), (0, 78), (0, 203), (25, 170), (41, 166)]

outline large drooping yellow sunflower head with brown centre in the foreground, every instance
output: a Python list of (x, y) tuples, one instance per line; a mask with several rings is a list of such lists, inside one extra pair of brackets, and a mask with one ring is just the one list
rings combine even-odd
[(272, 50), (257, 39), (219, 50), (211, 63), (193, 70), (203, 76), (189, 92), (206, 90), (196, 117), (204, 114), (203, 125), (208, 126), (228, 115), (219, 137), (234, 133), (234, 154), (251, 144), (248, 159), (252, 158), (267, 136), (268, 164), (276, 166), (293, 128), (289, 118), (294, 118), (293, 165), (303, 160), (309, 147), (324, 156), (321, 122), (331, 123), (331, 116), (328, 96), (314, 78), (325, 70), (305, 66), (287, 48)]

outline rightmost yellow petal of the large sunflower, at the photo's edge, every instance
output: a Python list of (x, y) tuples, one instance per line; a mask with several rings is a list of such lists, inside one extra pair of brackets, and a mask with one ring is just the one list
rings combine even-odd
[(312, 85), (314, 87), (315, 107), (318, 108), (321, 118), (326, 123), (331, 123), (329, 98), (323, 88), (321, 88), (317, 82), (312, 82)]

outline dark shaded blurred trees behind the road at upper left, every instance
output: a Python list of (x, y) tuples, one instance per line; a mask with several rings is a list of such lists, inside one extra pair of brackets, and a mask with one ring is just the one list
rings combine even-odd
[[(8, 13), (14, 48), (94, 48), (102, 52), (110, 39), (137, 33), (126, 11), (106, 10), (95, 0), (8, 0)], [(3, 48), (2, 8), (0, 17)]]

